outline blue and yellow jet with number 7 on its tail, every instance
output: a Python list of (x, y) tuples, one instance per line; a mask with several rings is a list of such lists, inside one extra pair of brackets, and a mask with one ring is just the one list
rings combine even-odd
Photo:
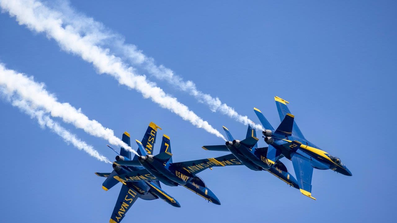
[(125, 173), (115, 178), (122, 183), (159, 180), (168, 186), (184, 186), (205, 200), (220, 205), (215, 194), (205, 185), (204, 181), (196, 174), (204, 169), (216, 165), (224, 166), (214, 158), (192, 160), (185, 162), (172, 162), (170, 137), (163, 135), (160, 153), (156, 156), (147, 154), (143, 144), (138, 140), (138, 160), (118, 160), (118, 166), (144, 167), (132, 173)]

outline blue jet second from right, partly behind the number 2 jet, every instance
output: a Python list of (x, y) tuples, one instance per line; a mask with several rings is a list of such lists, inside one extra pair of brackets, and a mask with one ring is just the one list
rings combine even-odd
[[(229, 140), (225, 145), (202, 147), (204, 150), (225, 151), (232, 153), (226, 156), (218, 157), (216, 160), (222, 162), (224, 165), (245, 165), (254, 171), (266, 170), (288, 185), (299, 189), (298, 182), (288, 172), (284, 163), (279, 160), (277, 160), (275, 163), (270, 163), (266, 159), (268, 148), (258, 148), (258, 138), (256, 138), (255, 129), (249, 126), (246, 138), (240, 141), (233, 138), (229, 132), (229, 129), (226, 127), (223, 128), (226, 132), (227, 139)], [(231, 159), (231, 157), (233, 157), (234, 160)]]

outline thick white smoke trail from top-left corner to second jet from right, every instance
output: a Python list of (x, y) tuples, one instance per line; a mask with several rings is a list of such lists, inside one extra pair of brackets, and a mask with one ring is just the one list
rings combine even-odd
[(155, 83), (146, 80), (145, 76), (136, 75), (131, 67), (127, 67), (119, 57), (109, 50), (95, 45), (97, 37), (82, 37), (70, 25), (64, 24), (62, 14), (34, 0), (2, 0), (0, 6), (12, 17), (16, 17), (20, 25), (26, 25), (36, 32), (46, 33), (47, 37), (58, 42), (63, 50), (81, 56), (83, 60), (93, 63), (99, 73), (107, 73), (126, 85), (140, 92), (144, 98), (150, 98), (173, 113), (189, 121), (194, 126), (206, 130), (225, 140), (225, 137), (204, 121), (176, 98), (167, 95)]

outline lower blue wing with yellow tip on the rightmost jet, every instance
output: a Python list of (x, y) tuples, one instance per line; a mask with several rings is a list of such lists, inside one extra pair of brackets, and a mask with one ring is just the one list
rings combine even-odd
[(297, 153), (292, 156), (291, 160), (301, 193), (316, 200), (316, 198), (312, 197), (313, 166), (310, 160)]

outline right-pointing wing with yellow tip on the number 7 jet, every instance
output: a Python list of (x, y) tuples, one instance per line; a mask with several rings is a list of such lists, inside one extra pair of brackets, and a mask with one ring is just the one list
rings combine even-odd
[(184, 169), (185, 171), (193, 175), (200, 173), (204, 169), (213, 167), (215, 165), (225, 166), (223, 163), (214, 158), (172, 163), (173, 167)]

